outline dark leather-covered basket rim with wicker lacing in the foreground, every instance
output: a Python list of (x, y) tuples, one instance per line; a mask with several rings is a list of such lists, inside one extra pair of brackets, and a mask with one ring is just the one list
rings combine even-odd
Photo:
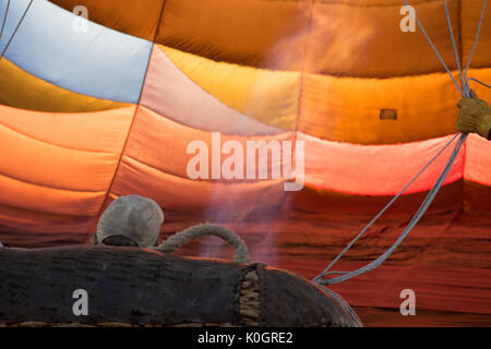
[[(361, 325), (338, 296), (299, 275), (161, 250), (0, 249), (0, 326)], [(73, 312), (76, 289), (87, 292), (86, 315)]]

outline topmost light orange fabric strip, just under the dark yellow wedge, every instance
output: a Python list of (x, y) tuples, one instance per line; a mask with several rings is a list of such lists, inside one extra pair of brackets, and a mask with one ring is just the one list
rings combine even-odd
[(135, 109), (49, 113), (0, 106), (0, 127), (65, 148), (120, 154)]

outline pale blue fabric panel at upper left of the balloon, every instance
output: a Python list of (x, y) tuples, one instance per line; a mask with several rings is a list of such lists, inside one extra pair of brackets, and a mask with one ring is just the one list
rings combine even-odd
[[(11, 1), (0, 51), (28, 2)], [(0, 0), (0, 23), (5, 8), (7, 0)], [(34, 0), (5, 58), (57, 86), (97, 98), (139, 103), (153, 43), (94, 22), (88, 22), (86, 32), (77, 32), (75, 21), (80, 17), (72, 12)]]

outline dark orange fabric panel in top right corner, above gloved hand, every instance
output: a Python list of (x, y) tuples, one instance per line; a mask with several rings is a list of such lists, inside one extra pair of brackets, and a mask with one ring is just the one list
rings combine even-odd
[[(476, 33), (481, 16), (481, 1), (462, 1), (462, 61), (463, 67), (467, 64), (470, 52), (472, 51)], [(489, 68), (491, 65), (491, 11), (489, 2), (484, 11), (482, 20), (481, 33), (479, 35), (479, 44), (472, 57), (470, 67)]]

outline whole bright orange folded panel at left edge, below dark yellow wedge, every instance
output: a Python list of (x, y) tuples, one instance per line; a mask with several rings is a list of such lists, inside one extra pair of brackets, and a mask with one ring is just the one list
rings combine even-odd
[(0, 204), (97, 215), (134, 110), (63, 115), (0, 107)]

